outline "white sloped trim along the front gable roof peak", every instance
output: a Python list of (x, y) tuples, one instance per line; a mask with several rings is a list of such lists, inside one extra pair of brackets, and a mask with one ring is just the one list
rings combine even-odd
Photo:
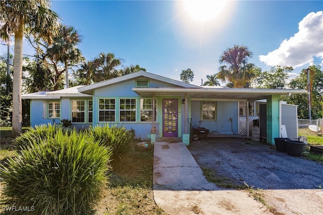
[(130, 74), (127, 74), (127, 75), (124, 75), (124, 76), (121, 76), (121, 77), (114, 78), (114, 79), (109, 79), (109, 80), (94, 83), (94, 84), (91, 84), (91, 85), (88, 85), (88, 86), (80, 87), (78, 89), (78, 92), (80, 92), (80, 93), (84, 92), (84, 93), (91, 94), (91, 91), (93, 91), (94, 89), (102, 88), (102, 87), (113, 85), (113, 84), (117, 84), (119, 82), (125, 82), (125, 81), (131, 80), (131, 79), (136, 79), (136, 78), (142, 77), (142, 76), (146, 77), (146, 78), (149, 78), (149, 79), (155, 79), (155, 80), (158, 80), (158, 81), (162, 81), (162, 82), (170, 83), (170, 84), (173, 84), (173, 85), (177, 85), (177, 86), (183, 87), (183, 88), (200, 88), (199, 86), (196, 86), (196, 85), (187, 84), (187, 83), (184, 83), (184, 82), (176, 81), (176, 80), (169, 79), (169, 78), (166, 78), (166, 77), (163, 77), (163, 76), (158, 76), (158, 75), (155, 75), (155, 74), (152, 74), (152, 73), (148, 73), (147, 71), (140, 70), (140, 71), (136, 71), (135, 73), (130, 73)]

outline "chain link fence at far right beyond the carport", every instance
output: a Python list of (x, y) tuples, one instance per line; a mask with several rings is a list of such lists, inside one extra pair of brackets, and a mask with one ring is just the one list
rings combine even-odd
[(298, 133), (301, 135), (323, 135), (323, 119), (298, 119)]

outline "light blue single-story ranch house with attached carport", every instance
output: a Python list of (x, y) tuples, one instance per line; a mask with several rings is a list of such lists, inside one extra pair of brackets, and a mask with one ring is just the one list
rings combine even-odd
[(71, 120), (79, 129), (109, 123), (134, 129), (142, 139), (179, 137), (184, 144), (189, 144), (190, 126), (199, 121), (201, 127), (217, 134), (249, 136), (259, 115), (259, 100), (265, 99), (262, 136), (274, 144), (274, 137), (282, 132), (283, 100), (304, 93), (200, 87), (141, 70), (88, 86), (26, 94), (22, 99), (30, 99), (31, 126), (62, 119)]

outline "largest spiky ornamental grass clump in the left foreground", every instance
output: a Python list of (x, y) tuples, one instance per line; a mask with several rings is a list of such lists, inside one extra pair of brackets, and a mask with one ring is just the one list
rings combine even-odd
[[(111, 150), (83, 132), (59, 130), (0, 165), (9, 205), (32, 214), (88, 214), (111, 168)], [(26, 211), (24, 211), (24, 214)]]

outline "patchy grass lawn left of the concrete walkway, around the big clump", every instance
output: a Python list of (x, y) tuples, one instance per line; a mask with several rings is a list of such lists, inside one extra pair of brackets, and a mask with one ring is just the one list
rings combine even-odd
[[(26, 130), (26, 128), (24, 128)], [(11, 128), (1, 127), (0, 162), (15, 155), (11, 144)], [(153, 199), (153, 146), (137, 146), (123, 158), (112, 164), (113, 171), (102, 190), (102, 198), (96, 202), (94, 214), (162, 214)], [(0, 182), (0, 185), (3, 184)], [(0, 192), (2, 209), (5, 197)], [(3, 213), (1, 213), (3, 214)]]

